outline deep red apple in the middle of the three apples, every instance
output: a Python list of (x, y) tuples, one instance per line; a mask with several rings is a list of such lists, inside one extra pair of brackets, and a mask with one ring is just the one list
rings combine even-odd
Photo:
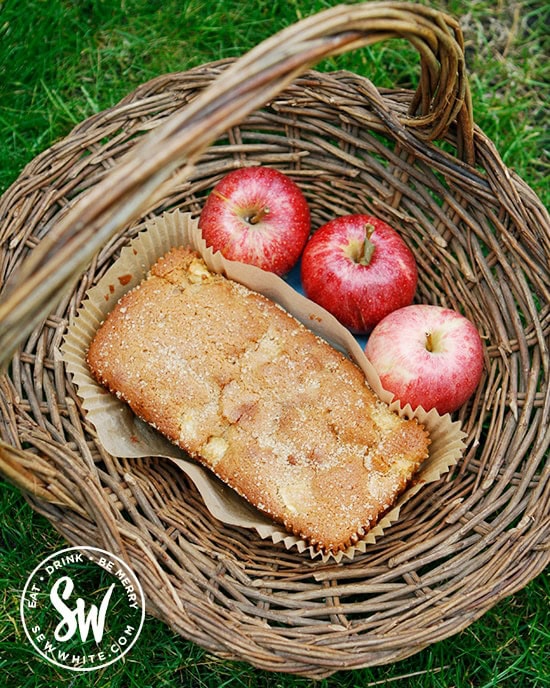
[(370, 215), (344, 215), (319, 228), (302, 255), (308, 298), (356, 334), (414, 297), (416, 261), (399, 234)]

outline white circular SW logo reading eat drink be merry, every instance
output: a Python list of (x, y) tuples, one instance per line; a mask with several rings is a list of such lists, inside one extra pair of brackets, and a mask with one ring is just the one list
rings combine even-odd
[(128, 565), (97, 547), (51, 554), (21, 596), (27, 638), (42, 657), (71, 671), (91, 671), (129, 652), (145, 619), (141, 585)]

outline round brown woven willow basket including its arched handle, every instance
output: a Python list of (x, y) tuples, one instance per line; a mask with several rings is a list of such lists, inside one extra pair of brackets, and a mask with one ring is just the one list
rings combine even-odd
[[(321, 58), (402, 37), (417, 92)], [(365, 554), (319, 562), (224, 525), (154, 457), (109, 456), (60, 359), (85, 292), (171, 208), (199, 213), (243, 165), (287, 172), (318, 227), (368, 211), (402, 232), (417, 300), (479, 327), (485, 372), (463, 459)], [(144, 84), (38, 156), (0, 206), (2, 473), (72, 544), (124, 558), (147, 611), (227, 659), (309, 677), (407, 657), (472, 623), (550, 559), (548, 214), (474, 126), (456, 21), (335, 7), (236, 62)]]

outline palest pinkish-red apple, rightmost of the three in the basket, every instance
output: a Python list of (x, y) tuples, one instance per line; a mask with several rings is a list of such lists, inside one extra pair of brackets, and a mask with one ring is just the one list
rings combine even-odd
[(456, 411), (474, 393), (483, 371), (475, 326), (439, 306), (419, 304), (390, 313), (371, 332), (365, 354), (382, 387), (413, 410)]

